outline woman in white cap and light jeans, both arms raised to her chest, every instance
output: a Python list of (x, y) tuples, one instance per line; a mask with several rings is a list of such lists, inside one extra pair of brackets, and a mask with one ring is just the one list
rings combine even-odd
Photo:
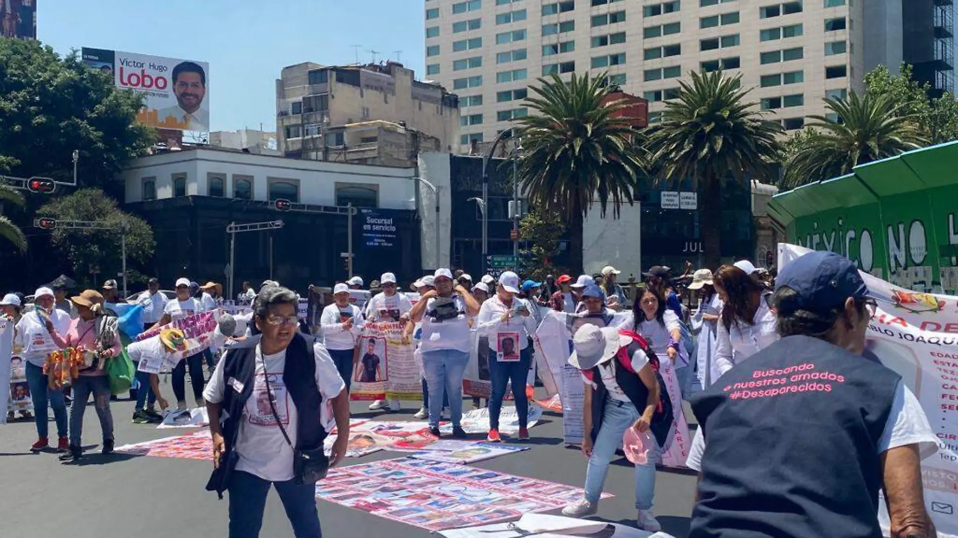
[(479, 303), (452, 272), (436, 270), (436, 289), (426, 292), (409, 312), (413, 323), (422, 321), (422, 370), (429, 386), (429, 429), (439, 436), (443, 397), (449, 397), (452, 437), (465, 438), (460, 426), (463, 417), (463, 374), (469, 362), (469, 318), (479, 313)]

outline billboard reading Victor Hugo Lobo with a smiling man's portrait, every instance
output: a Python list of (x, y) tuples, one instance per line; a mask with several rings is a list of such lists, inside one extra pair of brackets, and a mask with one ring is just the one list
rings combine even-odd
[(112, 73), (118, 88), (146, 95), (141, 122), (158, 129), (209, 132), (206, 62), (87, 47), (82, 54), (88, 67)]

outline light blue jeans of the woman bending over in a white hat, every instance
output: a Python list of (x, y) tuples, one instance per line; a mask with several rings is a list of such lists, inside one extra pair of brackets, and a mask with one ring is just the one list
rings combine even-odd
[[(589, 458), (589, 466), (585, 471), (586, 501), (599, 501), (605, 475), (608, 473), (608, 463), (622, 444), (626, 428), (631, 427), (638, 419), (639, 412), (630, 402), (619, 402), (610, 398), (605, 401), (602, 427), (599, 428), (599, 436), (592, 445), (592, 457)], [(589, 435), (588, 432), (585, 435)], [(635, 507), (640, 510), (650, 510), (655, 497), (655, 460), (658, 459), (659, 448), (654, 442), (652, 445), (654, 448), (649, 450), (648, 462), (635, 466)]]

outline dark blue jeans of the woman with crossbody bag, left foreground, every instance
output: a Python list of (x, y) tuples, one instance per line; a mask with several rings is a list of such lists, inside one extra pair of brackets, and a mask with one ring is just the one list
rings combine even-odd
[(316, 510), (316, 486), (293, 481), (269, 482), (244, 471), (230, 477), (229, 538), (257, 538), (262, 528), (262, 512), (266, 507), (269, 484), (280, 494), (286, 517), (296, 538), (321, 538), (319, 512)]

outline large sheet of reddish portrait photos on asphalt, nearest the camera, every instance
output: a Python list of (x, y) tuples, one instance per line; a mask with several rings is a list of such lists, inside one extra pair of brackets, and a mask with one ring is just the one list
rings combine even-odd
[(316, 496), (407, 525), (443, 530), (554, 510), (582, 499), (582, 489), (456, 463), (403, 458), (332, 469), (316, 484)]

